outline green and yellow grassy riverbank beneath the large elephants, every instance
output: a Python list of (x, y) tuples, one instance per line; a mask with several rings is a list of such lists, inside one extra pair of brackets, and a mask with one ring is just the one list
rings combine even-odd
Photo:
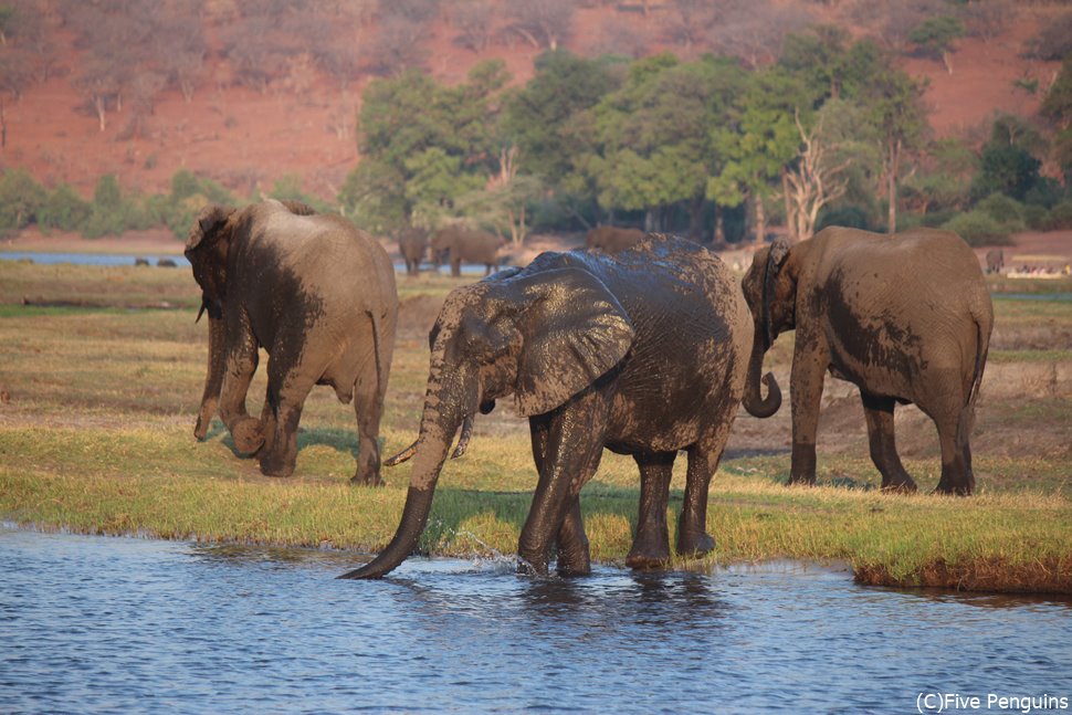
[[(414, 435), (428, 326), (456, 285), (435, 276), (399, 284), (404, 304), (382, 430), (387, 451)], [(235, 458), (218, 421), (206, 443), (193, 440), (206, 358), (197, 304), (186, 270), (0, 261), (0, 518), (87, 533), (380, 548), (398, 523), (409, 471), (387, 471), (387, 488), (349, 486), (353, 409), (327, 388), (307, 402), (294, 477), (263, 477), (254, 462)], [(1060, 377), (1072, 364), (1061, 343), (1072, 332), (1072, 304), (995, 306), (1001, 381), (1018, 366), (1028, 374), (1040, 364), (1052, 365), (1054, 377), (1028, 386), (1033, 392), (1001, 385), (984, 391), (977, 496), (873, 491), (879, 477), (855, 414), (859, 399), (837, 396), (820, 432), (821, 486), (787, 488), (786, 416), (742, 414), (712, 484), (708, 529), (717, 549), (677, 566), (845, 560), (864, 582), (1072, 593), (1072, 390)], [(779, 346), (774, 367), (785, 369), (788, 355)], [(254, 413), (262, 380), (251, 390)], [(906, 410), (898, 430), (910, 473), (933, 488), (933, 428)], [(675, 471), (671, 521), (684, 463)], [(513, 553), (534, 484), (525, 422), (503, 408), (477, 420), (469, 453), (444, 470), (422, 548)], [(607, 453), (581, 500), (593, 557), (624, 558), (637, 500), (632, 460)]]

